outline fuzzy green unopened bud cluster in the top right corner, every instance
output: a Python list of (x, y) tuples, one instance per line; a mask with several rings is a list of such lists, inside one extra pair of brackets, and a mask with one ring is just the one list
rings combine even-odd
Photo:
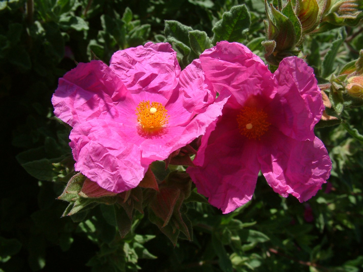
[(265, 0), (267, 41), (265, 58), (272, 65), (289, 56), (303, 55), (299, 49), (306, 34), (325, 32), (341, 25), (356, 25), (362, 18), (363, 0), (282, 0), (274, 7)]

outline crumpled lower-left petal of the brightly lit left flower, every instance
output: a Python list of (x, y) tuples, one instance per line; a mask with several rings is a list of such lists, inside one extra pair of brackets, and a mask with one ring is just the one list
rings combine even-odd
[(114, 193), (136, 187), (151, 161), (142, 161), (139, 147), (127, 142), (122, 125), (94, 119), (72, 129), (70, 147), (80, 171)]

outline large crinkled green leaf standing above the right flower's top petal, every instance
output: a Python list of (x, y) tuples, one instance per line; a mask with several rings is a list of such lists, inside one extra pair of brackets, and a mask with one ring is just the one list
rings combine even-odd
[(231, 11), (223, 13), (222, 19), (216, 22), (213, 44), (218, 41), (240, 42), (244, 40), (242, 34), (249, 29), (251, 16), (245, 5), (237, 5)]

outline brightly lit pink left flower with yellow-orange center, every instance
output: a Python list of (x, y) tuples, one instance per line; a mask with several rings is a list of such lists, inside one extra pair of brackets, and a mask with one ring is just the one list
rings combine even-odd
[(75, 169), (102, 188), (136, 187), (152, 161), (205, 133), (227, 98), (216, 100), (200, 62), (180, 73), (169, 44), (117, 51), (110, 67), (79, 63), (59, 79), (54, 114), (70, 124)]

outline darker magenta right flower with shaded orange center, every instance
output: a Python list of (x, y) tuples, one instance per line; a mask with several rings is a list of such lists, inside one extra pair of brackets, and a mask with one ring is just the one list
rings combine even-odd
[(285, 58), (272, 74), (244, 45), (222, 41), (200, 55), (205, 77), (228, 95), (187, 172), (198, 192), (229, 213), (248, 202), (261, 170), (276, 193), (306, 201), (330, 175), (314, 135), (324, 109), (313, 69)]

